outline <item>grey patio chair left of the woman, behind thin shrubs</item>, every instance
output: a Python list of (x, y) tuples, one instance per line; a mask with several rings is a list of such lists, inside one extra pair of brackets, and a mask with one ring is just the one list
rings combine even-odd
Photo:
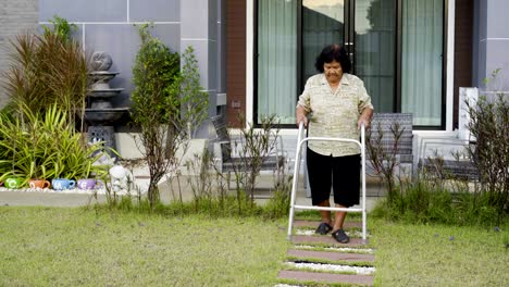
[(276, 172), (285, 166), (287, 157), (283, 154), (283, 140), (280, 137), (275, 139), (275, 150), (270, 154), (263, 154), (260, 159), (240, 157), (238, 154), (238, 147), (236, 147), (237, 145), (233, 145), (226, 123), (222, 116), (213, 116), (211, 121), (218, 136), (214, 141), (220, 145), (220, 152), (215, 152), (216, 154), (219, 153), (220, 171), (228, 173), (228, 178), (232, 172), (249, 172), (252, 169), (252, 164), (254, 164), (254, 160), (261, 160), (260, 171)]

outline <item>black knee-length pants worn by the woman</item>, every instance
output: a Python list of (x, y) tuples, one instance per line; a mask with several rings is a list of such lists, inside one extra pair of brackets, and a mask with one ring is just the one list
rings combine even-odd
[(359, 204), (360, 154), (323, 155), (308, 148), (306, 160), (313, 205), (331, 197), (331, 186), (334, 203), (347, 208)]

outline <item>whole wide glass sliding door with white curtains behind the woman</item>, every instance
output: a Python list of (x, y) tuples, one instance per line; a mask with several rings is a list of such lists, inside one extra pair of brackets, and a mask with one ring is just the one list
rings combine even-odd
[(254, 121), (294, 126), (314, 61), (344, 45), (375, 112), (410, 112), (417, 127), (444, 126), (445, 0), (257, 0)]

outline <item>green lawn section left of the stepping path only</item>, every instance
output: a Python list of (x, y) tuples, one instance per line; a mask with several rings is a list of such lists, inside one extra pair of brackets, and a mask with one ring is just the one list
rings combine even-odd
[(0, 286), (273, 286), (284, 224), (0, 208)]

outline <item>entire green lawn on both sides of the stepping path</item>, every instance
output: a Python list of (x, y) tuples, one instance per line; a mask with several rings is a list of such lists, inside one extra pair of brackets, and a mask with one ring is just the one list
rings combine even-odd
[[(509, 233), (370, 220), (376, 286), (508, 286)], [(0, 208), (0, 286), (274, 286), (286, 221)]]

